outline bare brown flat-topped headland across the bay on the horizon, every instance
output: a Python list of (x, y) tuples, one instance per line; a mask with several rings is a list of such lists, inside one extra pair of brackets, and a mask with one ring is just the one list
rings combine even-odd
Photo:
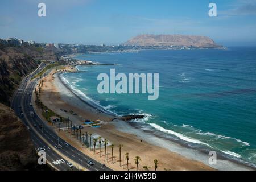
[(191, 35), (151, 35), (144, 34), (131, 38), (125, 44), (136, 46), (195, 46), (195, 47), (220, 47), (206, 36)]

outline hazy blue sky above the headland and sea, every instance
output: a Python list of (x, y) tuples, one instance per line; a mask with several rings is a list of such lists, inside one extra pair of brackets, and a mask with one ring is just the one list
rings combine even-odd
[[(46, 17), (38, 3), (46, 3)], [(208, 5), (217, 5), (217, 17)], [(209, 36), (226, 46), (256, 45), (256, 0), (1, 0), (0, 38), (118, 44), (138, 34)]]

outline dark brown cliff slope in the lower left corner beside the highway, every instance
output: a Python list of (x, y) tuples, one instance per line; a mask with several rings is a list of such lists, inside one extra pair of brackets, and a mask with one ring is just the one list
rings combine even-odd
[(40, 170), (30, 134), (13, 110), (0, 104), (0, 171)]

